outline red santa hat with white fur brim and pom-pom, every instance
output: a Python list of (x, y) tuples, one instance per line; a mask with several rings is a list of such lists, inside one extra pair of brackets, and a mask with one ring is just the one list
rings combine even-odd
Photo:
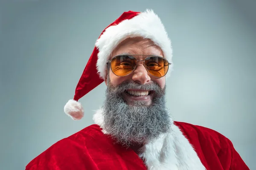
[[(64, 106), (64, 112), (73, 120), (79, 120), (84, 116), (84, 109), (78, 100), (104, 81), (107, 76), (107, 60), (116, 46), (128, 37), (152, 40), (162, 49), (164, 57), (172, 62), (171, 41), (157, 14), (148, 9), (145, 12), (124, 12), (105, 28), (96, 40), (93, 53), (76, 86), (75, 95)], [(166, 77), (171, 70), (172, 68), (169, 68)]]

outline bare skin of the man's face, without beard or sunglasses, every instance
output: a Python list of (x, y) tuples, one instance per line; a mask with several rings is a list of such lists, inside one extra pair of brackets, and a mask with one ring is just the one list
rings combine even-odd
[[(141, 54), (141, 55), (157, 55), (160, 57), (163, 56), (163, 51), (154, 44), (151, 40), (143, 39), (141, 37), (136, 38), (127, 38), (126, 40), (122, 41), (112, 52), (109, 59), (112, 57), (119, 55), (119, 54)], [(145, 59), (146, 56), (136, 56), (138, 60)], [(110, 82), (114, 87), (117, 87), (120, 85), (123, 81), (129, 81), (129, 82), (137, 82), (141, 85), (145, 85), (147, 83), (156, 82), (160, 88), (164, 88), (165, 86), (165, 77), (156, 78), (151, 76), (146, 68), (143, 65), (143, 62), (138, 62), (137, 68), (128, 76), (125, 77), (119, 77), (113, 74), (111, 71), (111, 68), (109, 70), (109, 77)], [(108, 85), (107, 79), (105, 79), (106, 85)], [(128, 89), (133, 91), (139, 91), (138, 89)], [(154, 98), (155, 94), (151, 94), (148, 96), (130, 96), (124, 92), (123, 97), (128, 103), (128, 105), (132, 105), (132, 102), (134, 100), (142, 100), (145, 102), (146, 105), (150, 105), (152, 102), (152, 99)]]

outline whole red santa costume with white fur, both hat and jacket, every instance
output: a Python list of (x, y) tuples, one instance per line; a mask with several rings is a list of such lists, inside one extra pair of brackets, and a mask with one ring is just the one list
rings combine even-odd
[[(108, 57), (128, 37), (152, 40), (172, 62), (171, 41), (160, 18), (151, 10), (124, 12), (96, 41), (75, 96), (64, 107), (72, 119), (84, 116), (78, 100), (104, 81)], [(149, 141), (137, 154), (113, 141), (104, 128), (102, 110), (93, 120), (94, 125), (53, 144), (29, 162), (26, 170), (249, 170), (232, 142), (206, 127), (172, 121), (171, 133)]]

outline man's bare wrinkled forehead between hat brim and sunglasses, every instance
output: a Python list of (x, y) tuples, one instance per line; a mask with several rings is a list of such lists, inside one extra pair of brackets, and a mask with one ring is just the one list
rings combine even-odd
[(163, 51), (153, 41), (142, 37), (127, 38), (112, 52), (112, 57), (119, 54), (143, 54), (163, 57)]

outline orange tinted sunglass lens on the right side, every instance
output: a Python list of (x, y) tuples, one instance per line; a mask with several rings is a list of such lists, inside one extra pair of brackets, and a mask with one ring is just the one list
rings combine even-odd
[(145, 59), (145, 66), (154, 77), (163, 77), (168, 71), (169, 63), (161, 57), (148, 57)]

